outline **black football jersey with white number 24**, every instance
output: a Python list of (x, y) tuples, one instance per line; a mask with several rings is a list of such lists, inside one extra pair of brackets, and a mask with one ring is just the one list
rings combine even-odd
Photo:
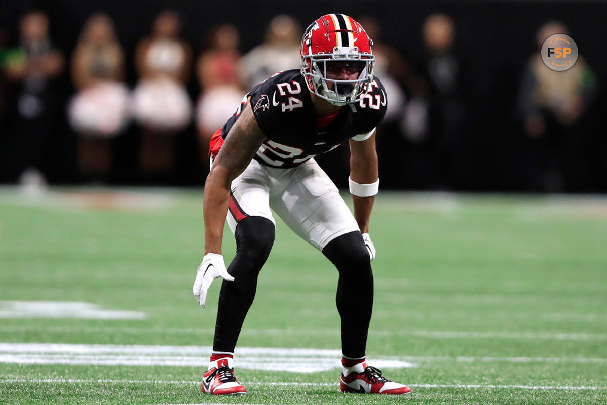
[(268, 137), (255, 156), (266, 166), (291, 168), (331, 151), (351, 137), (372, 131), (384, 118), (387, 96), (378, 78), (361, 101), (342, 107), (326, 127), (317, 127), (310, 90), (299, 70), (285, 70), (253, 87), (222, 128), (225, 138), (251, 97), (257, 124)]

